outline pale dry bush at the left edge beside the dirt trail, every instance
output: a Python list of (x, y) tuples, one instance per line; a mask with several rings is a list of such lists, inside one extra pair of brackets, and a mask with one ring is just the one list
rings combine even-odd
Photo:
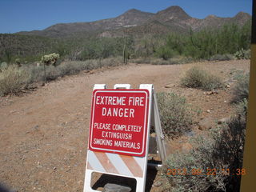
[(18, 94), (29, 80), (30, 74), (18, 66), (4, 68), (0, 73), (0, 95)]

